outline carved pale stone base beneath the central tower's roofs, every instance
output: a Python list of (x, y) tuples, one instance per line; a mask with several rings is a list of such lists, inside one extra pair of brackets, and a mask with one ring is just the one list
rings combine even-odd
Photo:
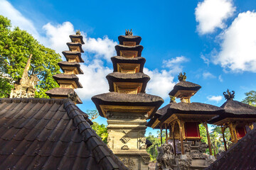
[(129, 167), (148, 169), (145, 113), (107, 113), (108, 147)]

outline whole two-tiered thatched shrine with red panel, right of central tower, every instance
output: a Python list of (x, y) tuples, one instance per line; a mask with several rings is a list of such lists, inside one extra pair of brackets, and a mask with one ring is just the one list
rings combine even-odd
[[(215, 160), (210, 156), (212, 153), (207, 121), (224, 110), (205, 103), (191, 103), (191, 96), (201, 86), (186, 81), (185, 73), (179, 74), (178, 80), (178, 84), (169, 93), (171, 102), (159, 109), (147, 126), (160, 128), (161, 131), (166, 129), (166, 144), (159, 147), (157, 158), (162, 168), (204, 169)], [(176, 103), (174, 98), (180, 98), (181, 102)], [(208, 145), (201, 142), (198, 127), (201, 123), (206, 128)], [(210, 155), (204, 154), (206, 148), (209, 148)]]

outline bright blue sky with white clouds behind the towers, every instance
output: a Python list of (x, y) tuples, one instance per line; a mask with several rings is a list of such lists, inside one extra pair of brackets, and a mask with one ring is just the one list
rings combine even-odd
[[(94, 109), (90, 100), (108, 91), (105, 76), (112, 72), (110, 57), (125, 29), (142, 36), (146, 93), (164, 98), (177, 83), (178, 73), (202, 89), (193, 102), (221, 106), (223, 91), (235, 91), (235, 100), (256, 89), (256, 1), (6, 1), (0, 14), (13, 26), (28, 30), (56, 52), (68, 50), (68, 35), (80, 29), (85, 45), (82, 111)], [(105, 118), (97, 122), (106, 123)], [(147, 133), (151, 132), (148, 128)]]

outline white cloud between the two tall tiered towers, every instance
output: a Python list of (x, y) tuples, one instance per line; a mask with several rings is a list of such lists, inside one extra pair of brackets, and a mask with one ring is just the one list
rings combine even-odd
[(82, 100), (90, 100), (96, 94), (109, 92), (106, 76), (112, 69), (104, 67), (102, 60), (92, 60), (88, 65), (81, 64), (81, 69), (84, 74), (79, 74), (78, 77), (83, 88), (76, 92)]

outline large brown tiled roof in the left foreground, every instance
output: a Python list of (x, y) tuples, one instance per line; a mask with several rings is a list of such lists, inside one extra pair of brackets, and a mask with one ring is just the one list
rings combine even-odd
[(0, 169), (127, 169), (70, 99), (0, 98)]

